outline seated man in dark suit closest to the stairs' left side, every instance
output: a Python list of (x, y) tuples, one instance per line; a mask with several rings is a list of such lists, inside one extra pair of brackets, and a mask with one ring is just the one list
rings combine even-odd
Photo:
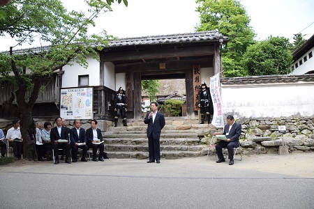
[[(86, 130), (86, 137), (87, 137), (87, 146), (89, 146), (89, 148), (93, 148), (93, 161), (98, 161), (98, 160), (103, 161), (103, 150), (105, 149), (104, 144), (103, 143), (93, 144), (93, 143), (103, 141), (103, 135), (101, 134), (101, 130), (97, 128), (96, 120), (91, 120), (91, 127)], [(97, 148), (99, 148), (98, 160), (97, 160)]]

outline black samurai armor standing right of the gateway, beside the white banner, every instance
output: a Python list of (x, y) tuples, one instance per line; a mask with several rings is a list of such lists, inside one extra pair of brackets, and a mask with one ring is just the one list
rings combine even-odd
[(201, 123), (204, 124), (205, 114), (207, 116), (208, 124), (211, 122), (211, 116), (209, 114), (209, 102), (211, 101), (211, 93), (209, 93), (209, 88), (202, 82), (200, 85), (200, 92), (198, 93), (198, 107), (200, 107), (201, 113)]

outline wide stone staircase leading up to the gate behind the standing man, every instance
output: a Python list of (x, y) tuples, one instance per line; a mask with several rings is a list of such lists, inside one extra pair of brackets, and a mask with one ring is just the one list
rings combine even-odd
[[(197, 157), (207, 155), (208, 146), (201, 144), (204, 134), (212, 125), (198, 124), (198, 120), (185, 117), (166, 117), (166, 125), (160, 135), (160, 153), (165, 159), (180, 157)], [(109, 158), (136, 158), (149, 157), (147, 125), (144, 121), (128, 120), (128, 127), (110, 126), (104, 132), (105, 152)]]

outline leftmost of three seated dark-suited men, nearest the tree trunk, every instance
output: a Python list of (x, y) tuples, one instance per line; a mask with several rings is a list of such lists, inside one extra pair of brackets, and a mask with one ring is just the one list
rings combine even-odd
[[(69, 160), (70, 157), (70, 141), (68, 138), (68, 134), (70, 133), (70, 129), (68, 127), (63, 127), (61, 125), (62, 118), (58, 117), (54, 120), (57, 123), (56, 127), (52, 127), (50, 131), (50, 140), (52, 143), (52, 147), (54, 149), (54, 164), (59, 164), (59, 149), (66, 150), (66, 163), (71, 163)], [(59, 139), (66, 139), (68, 142), (59, 142)]]

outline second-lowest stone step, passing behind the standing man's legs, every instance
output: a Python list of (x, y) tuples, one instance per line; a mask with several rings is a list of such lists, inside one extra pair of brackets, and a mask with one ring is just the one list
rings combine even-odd
[[(172, 146), (172, 145), (161, 145), (160, 151), (191, 151), (197, 152), (201, 151), (204, 146)], [(148, 144), (147, 145), (121, 145), (121, 144), (106, 144), (105, 150), (110, 152), (148, 152)]]

